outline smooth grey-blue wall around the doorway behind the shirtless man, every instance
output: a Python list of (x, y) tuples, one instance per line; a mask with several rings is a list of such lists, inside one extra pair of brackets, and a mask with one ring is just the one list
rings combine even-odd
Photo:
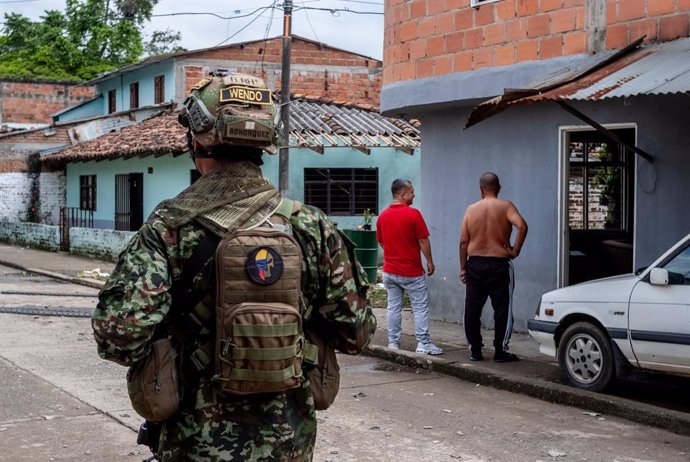
[[(690, 232), (690, 105), (681, 97), (637, 97), (578, 103), (604, 124), (637, 124), (638, 145), (658, 160), (637, 160), (635, 265), (651, 263)], [(431, 316), (462, 321), (459, 232), (465, 208), (479, 200), (478, 178), (496, 172), (501, 198), (512, 200), (530, 226), (514, 261), (515, 329), (524, 331), (540, 296), (557, 286), (559, 128), (586, 127), (551, 102), (511, 108), (463, 131), (469, 107), (415, 114), (422, 120), (423, 199), (437, 272), (429, 279)], [(487, 307), (482, 321), (492, 326)], [(462, 335), (462, 332), (458, 332)], [(432, 333), (433, 335), (433, 333)]]

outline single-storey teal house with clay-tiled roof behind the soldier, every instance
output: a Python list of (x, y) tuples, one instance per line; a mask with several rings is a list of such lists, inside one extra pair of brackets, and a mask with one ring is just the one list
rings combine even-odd
[[(296, 99), (290, 110), (289, 196), (326, 211), (343, 229), (390, 202), (395, 178), (418, 184), (419, 130), (371, 107)], [(176, 112), (151, 117), (45, 156), (64, 167), (66, 209), (95, 228), (138, 229), (160, 201), (196, 178)], [(264, 155), (277, 186), (278, 156)]]

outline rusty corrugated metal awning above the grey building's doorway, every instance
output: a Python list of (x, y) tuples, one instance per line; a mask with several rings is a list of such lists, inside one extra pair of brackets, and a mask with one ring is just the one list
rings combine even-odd
[(539, 101), (599, 101), (690, 91), (690, 39), (640, 47), (643, 38), (575, 77), (547, 86), (505, 90), (475, 107), (465, 128), (508, 107)]

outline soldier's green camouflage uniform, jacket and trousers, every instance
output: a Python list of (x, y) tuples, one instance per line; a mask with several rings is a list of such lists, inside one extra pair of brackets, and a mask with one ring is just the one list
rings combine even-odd
[[(171, 289), (208, 228), (213, 228), (200, 223), (213, 223), (209, 217), (229, 206), (214, 203), (201, 214), (177, 214), (171, 219), (173, 211), (180, 204), (193, 204), (194, 198), (204, 199), (200, 191), (216, 191), (215, 197), (220, 195), (217, 191), (223, 191), (227, 197), (262, 184), (267, 182), (258, 167), (233, 162), (157, 207), (120, 255), (99, 295), (92, 325), (102, 358), (132, 365), (146, 356), (154, 331), (159, 333), (170, 318), (174, 323), (174, 316), (167, 316)], [(262, 199), (266, 210), (279, 201), (275, 190), (261, 194), (268, 195)], [(205, 199), (208, 202), (209, 197)], [(270, 214), (266, 210), (256, 215), (266, 217)], [(248, 222), (252, 220), (255, 218)], [(345, 245), (335, 225), (316, 208), (302, 206), (290, 222), (304, 253), (304, 318), (316, 322), (339, 351), (359, 353), (373, 335), (376, 319), (368, 306), (365, 275), (351, 246)], [(193, 282), (194, 291), (204, 295), (199, 298), (211, 310), (215, 306), (214, 273), (213, 263), (208, 262)], [(215, 327), (205, 326), (192, 343), (213, 341), (214, 335)], [(164, 424), (159, 448), (163, 461), (311, 460), (316, 418), (306, 380), (288, 392), (249, 396), (214, 393), (210, 374), (186, 377), (185, 381), (194, 385), (185, 390), (178, 413)]]

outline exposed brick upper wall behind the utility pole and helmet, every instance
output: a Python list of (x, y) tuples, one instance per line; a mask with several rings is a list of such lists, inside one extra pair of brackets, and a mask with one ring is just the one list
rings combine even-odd
[[(238, 45), (210, 50), (195, 61), (223, 62), (229, 71), (256, 75), (274, 90), (280, 89), (282, 41)], [(185, 94), (215, 68), (208, 64), (184, 67)], [(381, 62), (372, 58), (294, 39), (291, 47), (290, 92), (342, 102), (379, 105)]]

